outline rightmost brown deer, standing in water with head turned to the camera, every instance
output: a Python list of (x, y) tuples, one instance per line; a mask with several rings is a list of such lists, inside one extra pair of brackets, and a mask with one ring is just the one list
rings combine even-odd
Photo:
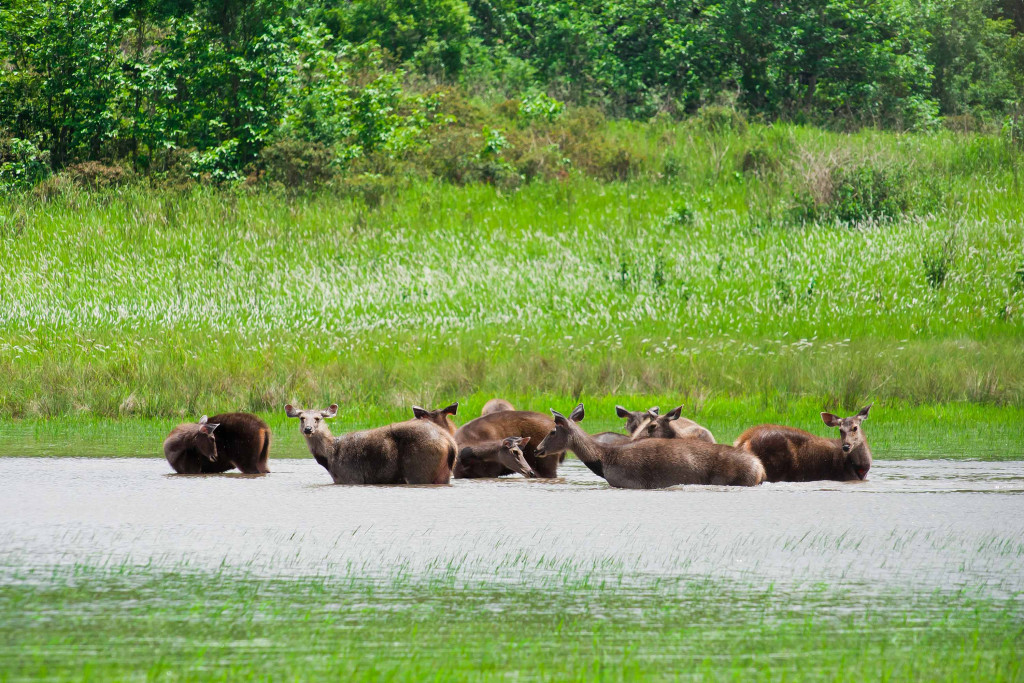
[(761, 459), (769, 481), (848, 481), (867, 478), (871, 451), (860, 423), (867, 419), (870, 405), (852, 418), (822, 413), (829, 427), (839, 427), (840, 438), (825, 438), (796, 427), (758, 425), (736, 439), (736, 446)]

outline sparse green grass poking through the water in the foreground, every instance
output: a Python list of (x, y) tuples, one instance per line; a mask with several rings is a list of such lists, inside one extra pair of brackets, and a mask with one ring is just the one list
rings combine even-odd
[(1019, 596), (568, 570), (268, 579), (48, 569), (0, 586), (0, 678), (1020, 680)]

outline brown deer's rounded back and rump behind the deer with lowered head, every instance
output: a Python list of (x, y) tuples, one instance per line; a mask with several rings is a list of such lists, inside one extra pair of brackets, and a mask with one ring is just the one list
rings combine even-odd
[[(528, 437), (528, 441), (523, 441), (523, 458), (539, 477), (551, 479), (558, 476), (559, 457), (564, 456), (564, 449), (561, 452), (549, 451), (544, 458), (536, 454), (537, 444), (551, 431), (554, 424), (551, 418), (541, 413), (500, 411), (470, 420), (455, 433), (455, 440), (461, 453), (467, 445), (498, 441), (509, 436)], [(512, 470), (501, 463), (484, 462), (471, 454), (467, 454), (466, 458), (460, 456), (454, 471), (457, 479), (499, 477), (511, 473)]]

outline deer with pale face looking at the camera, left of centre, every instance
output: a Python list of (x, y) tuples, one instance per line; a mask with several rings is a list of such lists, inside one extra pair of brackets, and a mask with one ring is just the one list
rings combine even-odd
[(335, 483), (449, 483), (457, 449), (452, 435), (437, 425), (409, 420), (332, 436), (327, 420), (337, 414), (337, 404), (326, 411), (285, 407), (285, 415), (299, 419), (309, 453)]

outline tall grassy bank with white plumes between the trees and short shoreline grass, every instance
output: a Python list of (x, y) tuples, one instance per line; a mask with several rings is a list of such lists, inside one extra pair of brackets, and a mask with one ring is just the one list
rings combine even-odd
[(0, 416), (652, 395), (736, 401), (723, 431), (871, 400), (1019, 424), (1024, 186), (998, 140), (606, 125), (628, 180), (3, 200)]

